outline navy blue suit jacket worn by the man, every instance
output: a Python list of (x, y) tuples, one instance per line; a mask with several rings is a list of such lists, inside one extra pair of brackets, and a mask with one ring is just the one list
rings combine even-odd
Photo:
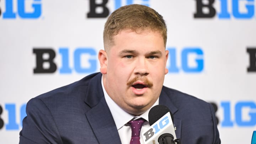
[[(101, 73), (91, 74), (27, 103), (20, 144), (121, 144), (101, 86)], [(159, 104), (174, 114), (182, 144), (220, 144), (213, 107), (165, 86)]]

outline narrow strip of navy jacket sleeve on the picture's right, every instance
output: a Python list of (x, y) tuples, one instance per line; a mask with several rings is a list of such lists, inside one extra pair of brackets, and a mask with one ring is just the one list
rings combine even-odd
[(210, 105), (210, 111), (212, 114), (212, 122), (213, 122), (213, 144), (220, 144), (220, 138), (219, 138), (219, 131), (217, 128), (217, 122), (216, 122), (216, 117), (215, 117), (215, 111), (214, 108), (211, 104)]

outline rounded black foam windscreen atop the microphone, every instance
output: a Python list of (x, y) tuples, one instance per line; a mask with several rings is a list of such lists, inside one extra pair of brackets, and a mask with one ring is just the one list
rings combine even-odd
[(164, 105), (156, 105), (152, 107), (149, 110), (149, 125), (151, 126), (152, 124), (154, 124), (156, 121), (158, 121), (162, 116), (164, 116), (168, 112), (170, 112), (171, 119), (173, 122), (173, 114), (168, 107)]

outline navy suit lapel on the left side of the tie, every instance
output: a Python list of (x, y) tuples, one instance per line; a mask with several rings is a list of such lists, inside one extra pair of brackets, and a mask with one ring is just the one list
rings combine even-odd
[(101, 86), (101, 74), (89, 82), (85, 103), (91, 107), (85, 113), (100, 144), (121, 144), (116, 124), (107, 106)]

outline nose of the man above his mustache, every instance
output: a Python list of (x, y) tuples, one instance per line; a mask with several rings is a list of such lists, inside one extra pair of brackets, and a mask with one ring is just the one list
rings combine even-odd
[(146, 61), (146, 58), (139, 58), (135, 65), (135, 75), (146, 76), (149, 74), (148, 62)]

